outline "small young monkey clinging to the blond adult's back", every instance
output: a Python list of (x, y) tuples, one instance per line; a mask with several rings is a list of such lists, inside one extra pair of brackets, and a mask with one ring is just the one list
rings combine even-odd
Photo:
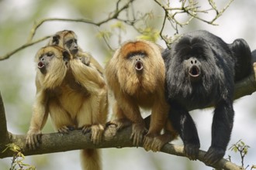
[(71, 30), (63, 30), (56, 32), (54, 36), (50, 38), (49, 45), (61, 46), (67, 49), (73, 56), (81, 59), (81, 62), (87, 66), (95, 67), (99, 73), (103, 74), (103, 68), (98, 61), (93, 58), (89, 53), (83, 52), (78, 46), (78, 36)]

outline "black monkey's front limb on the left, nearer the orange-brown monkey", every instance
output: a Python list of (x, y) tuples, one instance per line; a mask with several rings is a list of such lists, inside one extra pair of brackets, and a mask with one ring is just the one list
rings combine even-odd
[(196, 160), (200, 148), (199, 135), (188, 110), (185, 110), (178, 104), (171, 104), (168, 117), (175, 131), (178, 131), (182, 138), (185, 155), (191, 160)]

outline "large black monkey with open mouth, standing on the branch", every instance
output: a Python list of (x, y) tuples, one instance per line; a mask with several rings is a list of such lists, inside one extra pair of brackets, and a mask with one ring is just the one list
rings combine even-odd
[[(195, 31), (184, 34), (171, 49), (162, 53), (166, 97), (171, 105), (169, 119), (184, 142), (185, 154), (192, 160), (198, 158), (200, 142), (189, 110), (215, 106), (212, 144), (205, 155), (206, 164), (219, 161), (230, 141), (234, 81), (251, 73), (246, 69), (251, 68), (251, 63), (237, 63), (242, 61), (242, 56), (251, 59), (250, 48), (244, 40), (235, 43), (227, 44), (209, 32)], [(235, 71), (235, 68), (241, 70)]]

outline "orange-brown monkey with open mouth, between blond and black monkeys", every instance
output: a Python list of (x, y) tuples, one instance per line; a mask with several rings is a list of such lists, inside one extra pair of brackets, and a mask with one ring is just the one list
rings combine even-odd
[[(160, 46), (144, 40), (124, 43), (106, 65), (106, 80), (116, 99), (112, 108), (115, 119), (109, 124), (116, 124), (117, 129), (132, 124), (133, 145), (138, 146), (144, 140), (146, 150), (159, 151), (176, 137), (167, 121), (165, 68)], [(151, 109), (148, 131), (140, 107)], [(163, 128), (166, 131), (161, 134)]]

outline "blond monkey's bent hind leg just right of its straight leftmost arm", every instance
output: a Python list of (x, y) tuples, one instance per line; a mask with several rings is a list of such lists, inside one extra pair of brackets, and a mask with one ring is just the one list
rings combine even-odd
[(54, 124), (54, 128), (60, 133), (68, 133), (74, 130), (74, 122), (66, 110), (64, 110), (56, 100), (49, 102), (50, 118)]

